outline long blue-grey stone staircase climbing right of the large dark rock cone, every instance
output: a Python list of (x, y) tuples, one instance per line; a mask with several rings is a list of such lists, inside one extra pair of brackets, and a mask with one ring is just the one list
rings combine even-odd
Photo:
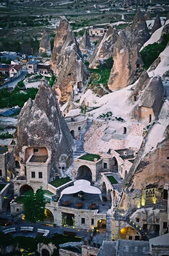
[[(79, 140), (74, 140), (74, 143), (76, 145), (76, 150), (73, 153), (73, 159), (80, 156), (81, 154), (85, 153), (84, 150), (84, 136), (86, 132), (89, 130), (90, 126), (92, 125), (92, 119), (87, 119), (87, 123), (85, 128), (80, 132)], [(69, 166), (68, 169), (66, 169), (65, 173), (66, 175), (71, 179), (75, 180), (74, 176), (72, 175), (72, 169), (74, 168), (74, 161), (71, 166)]]

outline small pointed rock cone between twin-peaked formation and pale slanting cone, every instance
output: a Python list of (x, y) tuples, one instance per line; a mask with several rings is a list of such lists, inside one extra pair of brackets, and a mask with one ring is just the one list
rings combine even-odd
[(79, 49), (82, 51), (83, 54), (87, 55), (84, 58), (86, 58), (86, 60), (89, 61), (89, 59), (95, 49), (95, 44), (91, 43), (89, 35), (87, 33), (87, 30), (84, 32), (82, 40), (80, 41)]

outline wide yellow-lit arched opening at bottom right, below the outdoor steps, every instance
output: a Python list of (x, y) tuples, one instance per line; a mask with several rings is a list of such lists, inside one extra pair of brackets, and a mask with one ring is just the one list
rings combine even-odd
[(120, 230), (118, 239), (123, 240), (140, 240), (140, 236), (134, 227), (124, 227)]

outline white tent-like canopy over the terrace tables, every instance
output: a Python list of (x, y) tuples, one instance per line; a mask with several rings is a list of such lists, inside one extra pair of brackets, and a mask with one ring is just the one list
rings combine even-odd
[[(100, 200), (102, 201), (102, 195), (101, 195), (101, 191), (100, 189), (97, 189), (94, 186), (90, 185), (90, 181), (88, 180), (76, 180), (74, 181), (74, 186), (70, 186), (66, 189), (63, 189), (63, 191), (60, 194), (60, 198), (64, 195), (64, 194), (74, 194), (77, 193), (79, 191), (83, 191), (85, 193), (89, 193), (89, 194), (98, 194), (100, 197)], [(59, 201), (60, 201), (59, 198)], [(102, 201), (103, 202), (103, 201)]]

